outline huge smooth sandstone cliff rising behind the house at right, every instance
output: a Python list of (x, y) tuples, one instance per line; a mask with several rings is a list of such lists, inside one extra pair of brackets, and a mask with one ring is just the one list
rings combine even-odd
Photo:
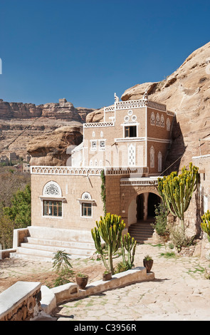
[[(177, 114), (166, 168), (176, 160), (172, 170), (182, 168), (193, 156), (210, 153), (210, 42), (191, 53), (164, 81), (137, 84), (128, 88), (121, 99), (140, 99), (145, 91), (150, 100), (165, 103)], [(100, 122), (103, 112), (94, 111), (87, 118)]]

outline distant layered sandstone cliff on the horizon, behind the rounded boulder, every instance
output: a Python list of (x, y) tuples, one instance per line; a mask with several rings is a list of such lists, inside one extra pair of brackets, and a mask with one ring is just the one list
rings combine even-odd
[[(85, 123), (86, 115), (93, 110), (75, 108), (68, 101), (36, 106), (32, 103), (8, 103), (0, 99), (0, 157), (16, 152), (24, 158), (28, 143), (33, 139), (36, 142), (36, 136), (51, 135), (54, 130), (64, 126), (80, 128)], [(50, 163), (49, 159), (47, 161)]]

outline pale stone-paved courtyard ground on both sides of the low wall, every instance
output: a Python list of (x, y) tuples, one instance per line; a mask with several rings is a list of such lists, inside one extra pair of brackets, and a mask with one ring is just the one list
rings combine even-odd
[[(199, 257), (174, 257), (164, 246), (139, 244), (135, 265), (149, 254), (154, 259), (155, 279), (68, 301), (53, 312), (58, 321), (210, 321), (209, 261)], [(115, 264), (119, 262), (118, 257)], [(93, 259), (71, 262), (75, 273), (89, 275), (89, 283), (101, 279), (103, 263)], [(0, 261), (0, 292), (19, 280), (51, 284), (52, 264), (23, 259)]]

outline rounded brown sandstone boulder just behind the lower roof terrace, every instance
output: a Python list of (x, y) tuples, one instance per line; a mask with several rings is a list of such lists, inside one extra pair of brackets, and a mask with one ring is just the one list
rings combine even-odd
[(83, 140), (82, 134), (81, 126), (63, 126), (51, 134), (37, 136), (27, 147), (32, 156), (30, 165), (65, 165), (70, 157), (67, 148), (79, 145)]

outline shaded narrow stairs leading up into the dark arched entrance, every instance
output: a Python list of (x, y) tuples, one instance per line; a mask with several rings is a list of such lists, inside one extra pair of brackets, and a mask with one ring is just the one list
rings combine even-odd
[[(154, 220), (153, 220), (154, 221)], [(138, 243), (152, 243), (153, 237), (152, 234), (154, 229), (151, 226), (152, 220), (147, 221), (139, 221), (133, 223), (128, 228), (128, 232), (130, 233), (131, 237), (134, 237)]]

